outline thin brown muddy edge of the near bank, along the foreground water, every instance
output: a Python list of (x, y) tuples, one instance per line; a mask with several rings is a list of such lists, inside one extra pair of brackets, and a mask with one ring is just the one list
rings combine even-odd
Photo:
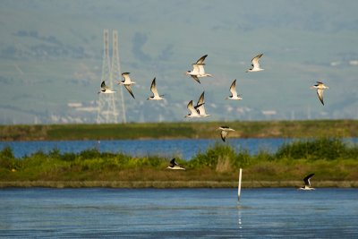
[[(243, 188), (298, 188), (301, 181), (243, 181)], [(236, 188), (234, 181), (13, 181), (0, 182), (0, 188)], [(318, 181), (312, 184), (314, 188), (358, 188), (358, 181)]]

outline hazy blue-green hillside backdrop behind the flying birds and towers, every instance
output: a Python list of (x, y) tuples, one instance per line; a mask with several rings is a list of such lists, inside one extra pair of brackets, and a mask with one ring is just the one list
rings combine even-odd
[[(356, 9), (356, 1), (1, 1), (0, 124), (96, 122), (104, 29), (118, 30), (121, 71), (137, 82), (135, 100), (123, 90), (128, 122), (184, 121), (204, 90), (211, 116), (200, 120), (358, 118)], [(259, 53), (265, 71), (245, 73)], [(198, 84), (184, 73), (205, 54), (214, 77)], [(146, 100), (154, 77), (165, 102)], [(234, 79), (241, 101), (225, 99)], [(330, 87), (325, 106), (315, 81)]]

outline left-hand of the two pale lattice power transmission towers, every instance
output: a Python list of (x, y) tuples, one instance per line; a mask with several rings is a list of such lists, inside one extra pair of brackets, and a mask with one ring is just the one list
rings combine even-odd
[[(101, 81), (106, 81), (106, 85), (110, 89), (113, 88), (113, 77), (109, 64), (109, 43), (108, 43), (108, 30), (103, 31), (104, 39), (104, 51), (103, 51), (103, 62), (102, 62), (102, 77)], [(115, 97), (114, 94), (98, 94), (98, 115), (97, 124), (104, 123), (118, 123), (118, 113), (115, 108)]]

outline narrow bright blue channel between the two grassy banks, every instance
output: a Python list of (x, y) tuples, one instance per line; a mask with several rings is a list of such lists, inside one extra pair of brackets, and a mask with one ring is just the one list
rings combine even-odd
[[(85, 149), (99, 149), (102, 152), (122, 152), (132, 156), (158, 155), (191, 159), (198, 152), (205, 152), (216, 143), (229, 144), (236, 150), (247, 149), (251, 154), (259, 150), (273, 152), (292, 139), (228, 139), (226, 143), (213, 139), (185, 140), (133, 140), (133, 141), (0, 141), (0, 149), (10, 146), (15, 157), (30, 155), (38, 150), (49, 152), (59, 149), (64, 152), (81, 152)], [(358, 138), (346, 139), (358, 142)]]

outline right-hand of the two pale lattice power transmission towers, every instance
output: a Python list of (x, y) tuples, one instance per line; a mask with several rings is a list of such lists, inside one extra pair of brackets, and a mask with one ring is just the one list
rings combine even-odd
[[(113, 30), (113, 48), (112, 48), (112, 66), (111, 66), (111, 78), (112, 81), (121, 81), (121, 66), (119, 61), (119, 52), (118, 52), (118, 31)], [(118, 87), (119, 98), (121, 99), (121, 107), (119, 108), (119, 115), (122, 115), (122, 122), (126, 123), (125, 115), (125, 105), (124, 105), (124, 95), (120, 85)], [(116, 99), (119, 99), (116, 98)], [(118, 101), (118, 100), (117, 100)], [(118, 102), (119, 103), (119, 102)], [(118, 104), (119, 105), (119, 104)]]

